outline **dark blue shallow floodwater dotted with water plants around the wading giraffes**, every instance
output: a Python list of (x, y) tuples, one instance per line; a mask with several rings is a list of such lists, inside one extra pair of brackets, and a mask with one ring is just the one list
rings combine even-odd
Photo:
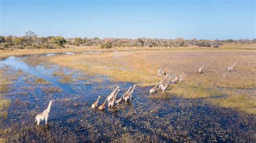
[[(47, 58), (49, 54), (42, 56)], [(98, 96), (103, 97), (101, 104), (118, 85), (123, 90), (119, 98), (133, 83), (111, 82), (102, 75), (86, 76), (57, 65), (29, 66), (22, 61), (25, 58), (10, 57), (0, 61), (0, 68), (8, 65), (25, 73), (4, 93), (5, 98), (11, 99), (11, 105), (8, 118), (1, 119), (0, 124), (2, 130), (9, 132), (0, 134), (0, 138), (9, 141), (117, 141), (129, 133), (143, 141), (148, 137), (151, 141), (256, 141), (253, 116), (239, 114), (234, 109), (214, 108), (203, 99), (152, 100), (148, 95), (151, 87), (136, 87), (131, 103), (122, 103), (114, 109), (107, 108), (106, 104), (104, 112), (91, 109)], [(62, 70), (80, 80), (60, 83), (61, 77), (53, 73)], [(28, 75), (42, 77), (50, 84), (33, 84), (25, 80)], [(43, 90), (52, 86), (62, 91)], [(27, 95), (21, 94), (24, 92)], [(36, 114), (48, 106), (50, 99), (54, 102), (48, 125), (45, 126), (43, 120), (36, 126)]]

